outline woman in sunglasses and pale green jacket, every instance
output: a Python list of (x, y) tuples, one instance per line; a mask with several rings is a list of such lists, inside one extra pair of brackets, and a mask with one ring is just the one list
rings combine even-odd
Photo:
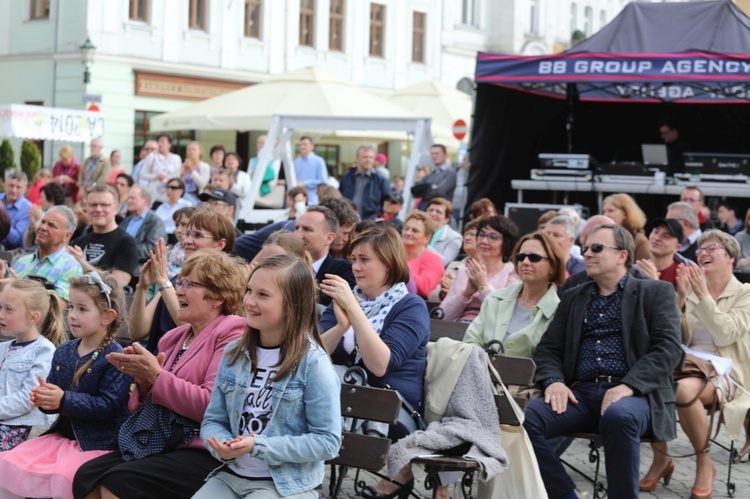
[(513, 264), (521, 284), (487, 296), (464, 341), (484, 348), (498, 340), (507, 355), (532, 357), (560, 303), (557, 286), (565, 282), (565, 259), (560, 246), (538, 231), (516, 244)]

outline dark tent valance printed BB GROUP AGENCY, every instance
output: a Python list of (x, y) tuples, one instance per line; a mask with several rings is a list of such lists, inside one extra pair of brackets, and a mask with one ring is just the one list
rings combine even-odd
[(584, 101), (747, 103), (750, 55), (480, 53), (476, 81), (550, 97), (565, 97), (574, 83)]

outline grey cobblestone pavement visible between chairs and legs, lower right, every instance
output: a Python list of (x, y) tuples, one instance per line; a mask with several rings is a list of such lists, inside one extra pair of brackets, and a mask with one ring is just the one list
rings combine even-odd
[[(692, 447), (688, 442), (687, 437), (682, 432), (682, 429), (677, 426), (677, 439), (670, 443), (670, 453), (674, 455), (683, 455), (692, 453)], [(722, 428), (717, 439), (719, 443), (729, 445), (729, 439), (726, 436), (726, 431)], [(735, 445), (741, 446), (742, 443), (735, 442)], [(728, 497), (727, 495), (727, 471), (728, 471), (728, 460), (729, 452), (721, 449), (715, 444), (712, 445), (711, 458), (714, 466), (716, 466), (716, 487), (714, 489), (713, 497), (715, 499)], [(593, 465), (588, 461), (589, 449), (588, 443), (582, 440), (574, 441), (563, 458), (573, 464), (575, 467), (593, 473)], [(602, 459), (603, 459), (602, 452)], [(641, 457), (641, 476), (646, 474), (649, 465), (651, 464), (651, 447), (648, 444), (642, 446), (642, 457)], [(330, 471), (330, 467), (328, 468)], [(602, 474), (604, 474), (604, 464), (602, 463)], [(327, 473), (328, 476), (328, 473)], [(424, 472), (417, 470), (415, 467), (416, 486), (415, 493), (419, 497), (429, 498), (431, 494), (425, 490), (424, 487)], [(593, 498), (594, 489), (593, 486), (586, 481), (584, 478), (572, 473), (571, 476), (576, 483), (578, 493), (581, 498)], [(676, 499), (676, 498), (689, 498), (690, 489), (693, 486), (693, 479), (695, 476), (695, 458), (687, 457), (675, 459), (675, 471), (672, 475), (672, 481), (669, 487), (664, 487), (662, 483), (653, 492), (642, 492), (640, 497), (642, 498), (659, 498), (659, 499)], [(341, 497), (353, 498), (358, 497), (354, 492), (354, 471), (349, 472), (347, 478), (344, 480), (343, 493)], [(606, 477), (604, 478), (606, 481)], [(367, 472), (360, 474), (360, 480), (364, 480), (368, 484), (375, 483), (377, 478)], [(732, 467), (732, 482), (736, 485), (736, 492), (734, 497), (737, 499), (750, 499), (750, 463), (739, 463)], [(324, 494), (328, 495), (328, 480), (323, 484)], [(476, 486), (474, 487), (474, 493), (476, 494)], [(457, 499), (461, 497), (458, 489), (451, 490), (451, 497)], [(519, 499), (535, 499), (535, 498), (519, 498)]]

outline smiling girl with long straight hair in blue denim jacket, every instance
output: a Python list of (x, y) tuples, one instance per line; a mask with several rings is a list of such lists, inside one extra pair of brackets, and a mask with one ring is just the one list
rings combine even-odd
[(341, 445), (341, 410), (310, 268), (289, 255), (263, 260), (244, 304), (247, 328), (224, 352), (201, 425), (225, 464), (193, 497), (318, 497), (323, 463)]

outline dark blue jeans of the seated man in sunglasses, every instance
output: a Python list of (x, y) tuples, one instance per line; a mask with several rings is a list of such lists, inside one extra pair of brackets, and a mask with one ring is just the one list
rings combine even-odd
[(602, 436), (608, 497), (638, 498), (641, 437), (650, 430), (651, 409), (646, 397), (626, 397), (600, 415), (604, 394), (613, 386), (614, 383), (574, 383), (571, 390), (578, 404), (568, 402), (562, 414), (552, 412), (544, 398), (529, 403), (524, 428), (534, 446), (550, 499), (565, 497), (575, 484), (548, 439), (575, 432)]

